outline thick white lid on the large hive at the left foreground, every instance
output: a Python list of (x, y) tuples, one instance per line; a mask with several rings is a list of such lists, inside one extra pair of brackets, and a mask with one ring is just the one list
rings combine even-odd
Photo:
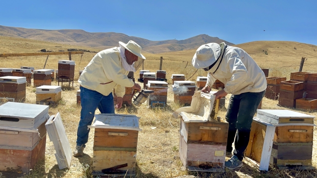
[(0, 106), (0, 126), (37, 129), (48, 119), (48, 106), (8, 102)]

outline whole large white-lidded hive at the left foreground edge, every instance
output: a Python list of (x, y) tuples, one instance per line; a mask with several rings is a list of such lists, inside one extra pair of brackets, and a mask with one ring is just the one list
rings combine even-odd
[(45, 159), (48, 106), (5, 103), (0, 106), (0, 171), (28, 173)]

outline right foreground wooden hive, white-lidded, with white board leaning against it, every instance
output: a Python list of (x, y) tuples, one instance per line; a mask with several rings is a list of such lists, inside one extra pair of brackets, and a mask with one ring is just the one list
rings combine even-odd
[(314, 116), (295, 111), (259, 109), (245, 155), (265, 167), (260, 170), (267, 170), (269, 163), (311, 169), (313, 123)]

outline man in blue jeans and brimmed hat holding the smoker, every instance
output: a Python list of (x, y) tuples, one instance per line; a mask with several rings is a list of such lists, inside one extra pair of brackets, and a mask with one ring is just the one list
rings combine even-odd
[(77, 146), (74, 156), (82, 156), (85, 143), (88, 142), (89, 128), (95, 110), (101, 113), (115, 113), (112, 91), (116, 90), (117, 105), (122, 106), (125, 87), (141, 90), (139, 84), (130, 80), (129, 71), (136, 71), (145, 57), (141, 47), (134, 41), (127, 44), (119, 41), (119, 47), (100, 51), (89, 62), (79, 77), (81, 111), (77, 130)]

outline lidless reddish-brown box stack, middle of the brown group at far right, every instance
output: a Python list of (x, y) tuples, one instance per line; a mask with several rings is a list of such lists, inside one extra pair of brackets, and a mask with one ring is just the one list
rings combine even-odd
[(278, 104), (282, 107), (295, 107), (296, 100), (303, 97), (304, 82), (283, 81), (279, 86)]

